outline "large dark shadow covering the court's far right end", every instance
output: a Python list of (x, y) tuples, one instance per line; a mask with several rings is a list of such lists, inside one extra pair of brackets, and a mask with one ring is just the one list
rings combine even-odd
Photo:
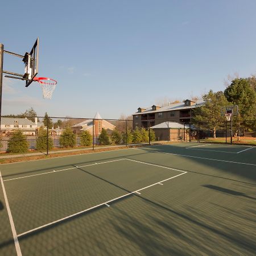
[[(195, 172), (202, 175), (213, 175), (223, 179), (230, 179), (238, 181), (240, 183), (246, 183), (256, 186), (256, 162), (254, 157), (255, 154), (249, 154), (249, 152), (245, 153), (247, 154), (247, 159), (250, 160), (248, 160), (249, 163), (246, 164), (246, 161), (243, 159), (246, 158), (245, 155), (232, 154), (226, 155), (226, 158), (224, 158), (224, 153), (216, 154), (216, 152), (209, 153), (208, 151), (187, 152), (184, 147), (177, 147), (174, 145), (154, 146), (151, 148), (145, 147), (139, 148), (139, 150), (147, 151), (151, 154), (156, 154), (155, 158), (154, 156), (152, 156), (150, 158), (150, 161), (148, 162), (156, 163), (156, 161), (158, 160), (157, 154), (160, 153), (167, 156), (167, 159), (170, 162), (170, 164), (168, 164), (168, 167), (179, 168), (183, 171)], [(181, 168), (180, 162), (179, 164), (176, 164), (175, 160), (171, 159), (172, 156), (179, 156), (181, 159), (184, 159)], [(250, 183), (250, 181), (252, 181), (252, 183)]]

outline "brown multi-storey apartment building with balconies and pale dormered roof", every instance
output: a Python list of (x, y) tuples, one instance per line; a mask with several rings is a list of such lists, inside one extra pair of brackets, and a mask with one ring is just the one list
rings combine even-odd
[(193, 109), (204, 104), (203, 100), (185, 100), (168, 106), (153, 105), (151, 108), (138, 108), (133, 114), (133, 128), (148, 128), (162, 122), (189, 123), (193, 117)]

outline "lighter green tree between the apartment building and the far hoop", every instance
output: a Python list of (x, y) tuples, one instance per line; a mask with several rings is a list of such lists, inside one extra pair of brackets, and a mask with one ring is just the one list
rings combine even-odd
[(200, 127), (213, 131), (213, 138), (216, 138), (216, 131), (223, 128), (226, 122), (221, 115), (221, 108), (230, 105), (223, 92), (214, 93), (212, 90), (203, 96), (205, 104), (194, 109), (194, 122), (200, 122)]

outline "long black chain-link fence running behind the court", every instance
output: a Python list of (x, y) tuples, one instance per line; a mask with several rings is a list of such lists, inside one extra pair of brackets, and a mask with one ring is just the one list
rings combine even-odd
[(158, 118), (155, 123), (154, 119), (138, 123), (128, 119), (2, 116), (0, 151), (49, 154), (173, 141), (256, 144), (255, 120), (177, 123)]

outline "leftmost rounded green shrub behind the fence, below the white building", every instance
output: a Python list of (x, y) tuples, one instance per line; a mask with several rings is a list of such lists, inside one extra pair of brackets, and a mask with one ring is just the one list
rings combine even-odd
[(10, 153), (26, 153), (28, 151), (28, 141), (22, 131), (14, 131), (9, 140), (7, 151)]

